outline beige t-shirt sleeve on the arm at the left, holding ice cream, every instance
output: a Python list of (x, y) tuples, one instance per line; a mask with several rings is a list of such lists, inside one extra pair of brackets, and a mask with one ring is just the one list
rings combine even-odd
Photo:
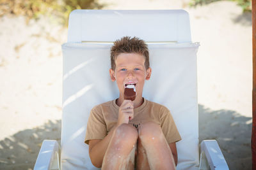
[(84, 143), (89, 144), (91, 139), (103, 139), (106, 135), (107, 128), (102, 111), (100, 106), (96, 106), (91, 110), (88, 118)]

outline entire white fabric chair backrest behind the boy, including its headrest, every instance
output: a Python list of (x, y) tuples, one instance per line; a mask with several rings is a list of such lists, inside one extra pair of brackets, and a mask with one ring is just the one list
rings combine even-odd
[(173, 115), (182, 137), (177, 143), (177, 169), (198, 169), (199, 44), (191, 43), (189, 15), (184, 10), (75, 10), (70, 14), (68, 42), (62, 45), (62, 169), (95, 169), (84, 144), (86, 124), (93, 106), (118, 97), (108, 70), (111, 41), (122, 36), (150, 42), (152, 77), (145, 83), (143, 97), (163, 104)]

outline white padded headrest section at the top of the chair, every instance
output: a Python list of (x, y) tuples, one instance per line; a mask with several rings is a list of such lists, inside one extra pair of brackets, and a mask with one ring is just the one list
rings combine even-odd
[(111, 42), (138, 36), (149, 42), (191, 42), (189, 15), (184, 10), (74, 10), (68, 42)]

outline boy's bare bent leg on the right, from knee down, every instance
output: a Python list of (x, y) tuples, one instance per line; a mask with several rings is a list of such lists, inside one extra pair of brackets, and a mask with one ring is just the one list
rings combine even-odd
[[(172, 151), (164, 137), (162, 129), (154, 122), (146, 122), (141, 124), (138, 129), (139, 143), (137, 155), (138, 169), (175, 169), (175, 162), (173, 160)], [(144, 148), (146, 154), (143, 153)], [(142, 151), (142, 152), (140, 152)], [(144, 155), (140, 155), (140, 154)], [(147, 155), (147, 159), (145, 156)], [(140, 160), (142, 158), (142, 160)], [(145, 162), (147, 160), (148, 162)]]

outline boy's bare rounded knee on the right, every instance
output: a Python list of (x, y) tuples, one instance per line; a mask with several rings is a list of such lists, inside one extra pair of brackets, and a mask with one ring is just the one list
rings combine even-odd
[(155, 122), (145, 122), (139, 127), (139, 137), (143, 141), (153, 141), (158, 140), (163, 137), (163, 132), (160, 125)]

